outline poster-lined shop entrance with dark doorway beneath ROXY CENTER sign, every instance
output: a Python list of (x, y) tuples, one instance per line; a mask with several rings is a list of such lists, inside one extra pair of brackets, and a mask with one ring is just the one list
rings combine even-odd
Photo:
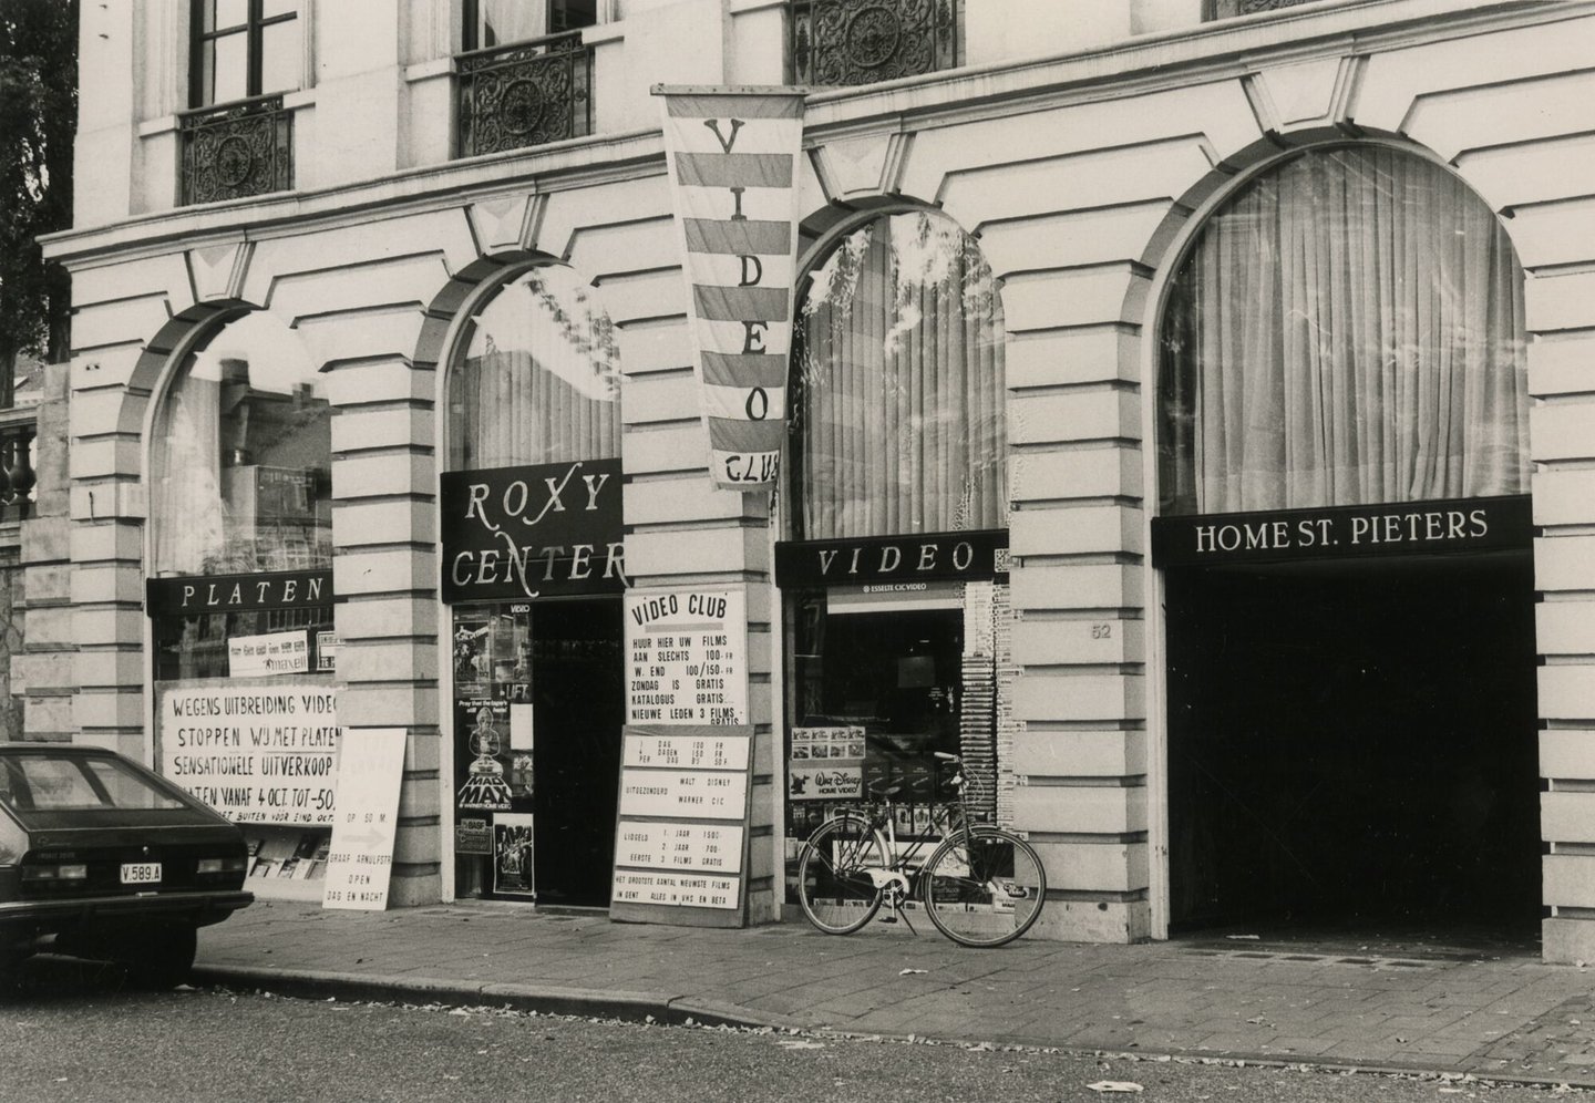
[(606, 595), (455, 607), (458, 897), (609, 905), (620, 606)]

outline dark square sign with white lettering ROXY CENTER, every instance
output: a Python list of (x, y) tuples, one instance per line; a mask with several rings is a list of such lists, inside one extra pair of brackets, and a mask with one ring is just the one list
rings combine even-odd
[(443, 472), (443, 601), (627, 587), (620, 461)]

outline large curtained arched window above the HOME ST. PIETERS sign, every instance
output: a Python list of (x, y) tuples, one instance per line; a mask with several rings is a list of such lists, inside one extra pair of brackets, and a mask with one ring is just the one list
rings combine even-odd
[(1420, 156), (1309, 151), (1250, 182), (1160, 336), (1164, 515), (1528, 491), (1522, 269)]

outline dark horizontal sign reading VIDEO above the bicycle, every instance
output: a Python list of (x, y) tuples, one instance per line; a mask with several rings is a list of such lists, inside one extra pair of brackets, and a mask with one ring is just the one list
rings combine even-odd
[(775, 545), (775, 582), (782, 587), (971, 580), (1006, 574), (1006, 529)]

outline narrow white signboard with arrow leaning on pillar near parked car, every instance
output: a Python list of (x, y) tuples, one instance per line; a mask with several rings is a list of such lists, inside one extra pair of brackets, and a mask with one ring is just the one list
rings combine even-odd
[(404, 728), (351, 728), (338, 762), (338, 816), (332, 826), (321, 905), (381, 912), (388, 907)]

